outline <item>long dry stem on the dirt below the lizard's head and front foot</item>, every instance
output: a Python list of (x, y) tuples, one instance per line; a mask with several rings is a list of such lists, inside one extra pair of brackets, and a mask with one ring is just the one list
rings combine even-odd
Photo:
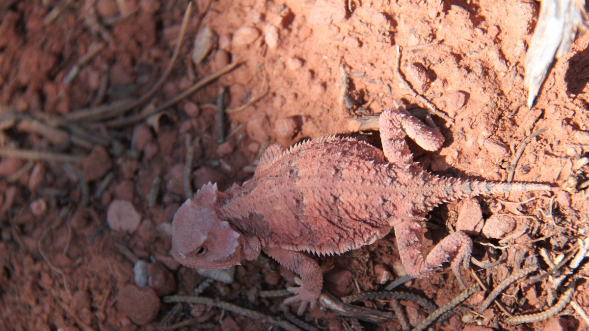
[(262, 323), (269, 323), (278, 327), (282, 327), (284, 330), (287, 331), (300, 331), (300, 329), (289, 322), (286, 322), (278, 317), (267, 316), (262, 313), (256, 312), (254, 310), (245, 309), (243, 307), (237, 306), (236, 304), (218, 301), (215, 299), (210, 299), (208, 297), (201, 297), (201, 296), (165, 296), (162, 298), (162, 302), (164, 303), (171, 303), (171, 302), (187, 302), (187, 303), (200, 303), (200, 304), (208, 304), (209, 306), (221, 308), (224, 310), (229, 310), (230, 312), (243, 315), (246, 317), (250, 317), (251, 319), (260, 320)]

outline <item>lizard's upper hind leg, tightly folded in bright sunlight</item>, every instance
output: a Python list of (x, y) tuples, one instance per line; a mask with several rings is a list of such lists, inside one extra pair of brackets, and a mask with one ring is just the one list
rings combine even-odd
[(403, 108), (383, 111), (379, 127), (386, 158), (399, 166), (412, 162), (405, 134), (427, 151), (436, 151), (444, 144), (444, 135), (438, 128), (429, 127)]

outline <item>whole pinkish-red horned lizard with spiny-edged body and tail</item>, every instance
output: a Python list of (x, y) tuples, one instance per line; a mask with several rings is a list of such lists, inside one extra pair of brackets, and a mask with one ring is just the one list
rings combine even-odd
[(545, 184), (492, 183), (443, 178), (413, 162), (405, 133), (425, 150), (444, 143), (403, 109), (382, 112), (383, 151), (363, 141), (335, 136), (306, 141), (282, 151), (271, 145), (251, 180), (225, 192), (203, 186), (178, 209), (172, 224), (174, 258), (188, 267), (215, 269), (255, 259), (260, 251), (300, 275), (291, 289), (302, 315), (315, 306), (323, 286), (313, 254), (341, 254), (369, 245), (395, 229), (409, 275), (429, 276), (451, 262), (458, 279), (468, 266), (472, 241), (456, 231), (424, 257), (422, 220), (439, 203), (513, 191), (551, 190)]

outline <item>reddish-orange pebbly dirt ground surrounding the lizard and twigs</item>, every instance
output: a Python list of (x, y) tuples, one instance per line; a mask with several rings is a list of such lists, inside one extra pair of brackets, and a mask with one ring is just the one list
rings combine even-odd
[[(422, 108), (397, 74), (397, 45), (406, 80), (454, 120), (434, 116), (446, 138), (441, 150), (426, 153), (409, 143), (424, 168), (442, 176), (506, 181), (522, 141), (548, 128), (527, 140), (514, 181), (565, 188), (553, 196), (511, 194), (444, 204), (428, 214), (426, 251), (448, 231), (471, 227), (477, 259), (507, 256), (486, 271), (473, 266), (494, 287), (530, 257), (537, 257), (544, 270), (534, 274), (544, 273), (550, 265), (540, 257), (541, 249), (552, 257), (567, 254), (589, 230), (589, 34), (555, 62), (537, 104), (527, 108), (523, 62), (539, 8), (532, 1), (197, 0), (180, 56), (148, 101), (163, 104), (228, 63), (242, 64), (158, 118), (117, 128), (107, 128), (105, 121), (77, 122), (93, 131), (76, 141), (75, 128), (59, 119), (144, 95), (170, 63), (187, 5), (186, 0), (0, 3), (0, 144), (89, 155), (71, 164), (2, 157), (0, 330), (155, 330), (193, 317), (197, 320), (184, 329), (268, 330), (267, 323), (219, 308), (183, 304), (173, 309), (174, 304), (158, 300), (170, 293), (191, 294), (206, 279), (168, 255), (169, 225), (186, 198), (186, 134), (194, 137), (193, 188), (216, 181), (223, 190), (252, 176), (254, 160), (268, 143), (287, 147), (303, 138), (346, 134), (350, 120), (378, 114), (395, 102), (409, 110)], [(55, 8), (59, 12), (48, 19)], [(195, 63), (194, 40), (205, 28), (214, 33), (206, 40), (212, 49)], [(70, 69), (101, 44), (105, 47), (65, 84)], [(349, 77), (347, 91), (342, 71)], [(221, 87), (227, 87), (224, 101), (230, 109), (224, 121), (229, 138), (223, 144), (217, 142), (216, 117)], [(31, 124), (34, 119), (47, 125), (39, 130)], [(355, 136), (378, 144), (376, 133)], [(105, 176), (112, 182), (95, 194)], [(161, 183), (150, 206), (158, 176)], [(120, 207), (128, 203), (134, 214)], [(476, 216), (478, 206), (484, 220), (460, 216)], [(120, 216), (122, 223), (115, 216), (106, 223), (109, 207), (113, 215), (127, 212)], [(135, 287), (137, 259), (149, 263), (145, 287)], [(382, 289), (381, 281), (403, 272), (392, 234), (372, 246), (317, 260), (325, 270), (326, 289), (336, 296)], [(580, 280), (573, 301), (587, 310), (585, 265), (574, 273)], [(284, 289), (289, 280), (292, 275), (262, 256), (237, 267), (232, 283), (215, 281), (202, 295), (281, 316), (282, 297), (257, 294)], [(472, 276), (467, 281), (475, 283)], [(514, 315), (540, 312), (550, 306), (552, 282), (552, 277), (532, 285), (519, 280), (498, 300)], [(405, 286), (438, 306), (461, 292), (448, 269)], [(505, 314), (491, 305), (479, 325), (464, 324), (461, 316), (476, 310), (484, 297), (474, 294), (455, 310), (458, 315), (432, 327), (588, 327), (570, 306), (560, 317), (516, 327), (506, 325)], [(390, 310), (388, 303), (360, 305)], [(400, 303), (412, 326), (428, 315), (411, 301)], [(348, 317), (319, 310), (301, 318), (333, 331), (355, 325)], [(378, 326), (360, 323), (366, 330), (402, 328), (397, 319)]]

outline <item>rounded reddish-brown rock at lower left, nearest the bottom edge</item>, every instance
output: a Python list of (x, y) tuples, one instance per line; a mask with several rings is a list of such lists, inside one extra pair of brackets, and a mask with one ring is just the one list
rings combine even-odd
[(127, 285), (117, 295), (117, 309), (138, 325), (154, 320), (160, 305), (160, 298), (151, 287)]

